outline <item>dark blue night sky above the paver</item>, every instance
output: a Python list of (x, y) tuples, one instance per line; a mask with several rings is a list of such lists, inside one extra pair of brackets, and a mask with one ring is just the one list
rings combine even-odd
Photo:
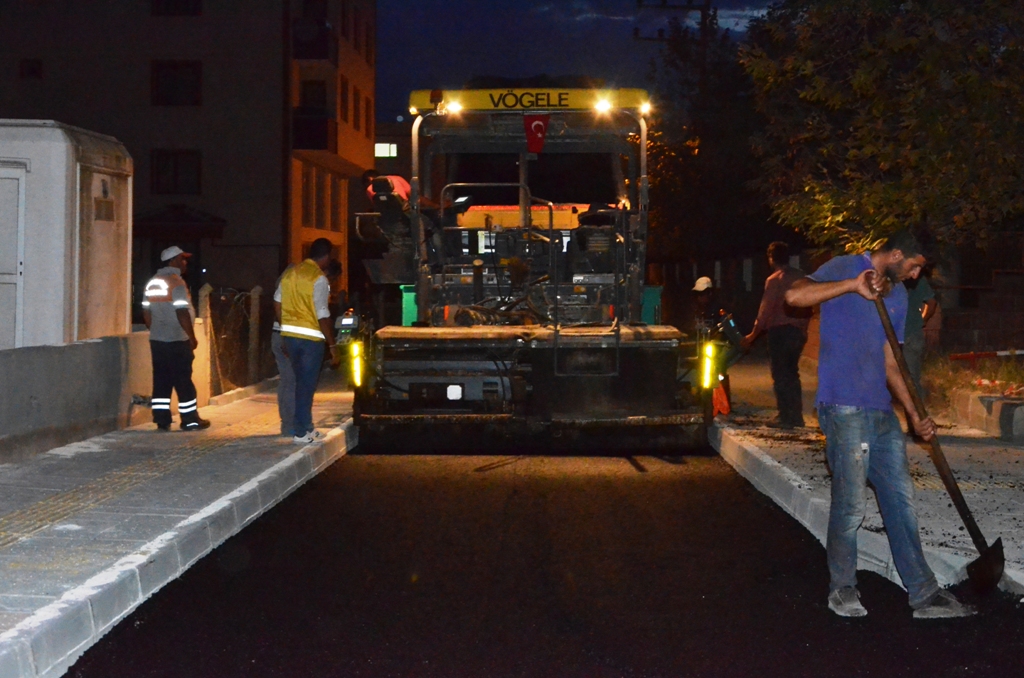
[[(769, 3), (714, 4), (723, 28), (742, 32)], [(634, 40), (633, 29), (652, 36), (671, 15), (635, 0), (378, 0), (377, 117), (406, 114), (413, 89), (460, 87), (476, 75), (583, 75), (646, 87), (658, 45)]]

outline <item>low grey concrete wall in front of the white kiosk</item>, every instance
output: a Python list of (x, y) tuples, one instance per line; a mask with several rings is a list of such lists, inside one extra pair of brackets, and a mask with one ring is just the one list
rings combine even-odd
[[(210, 350), (202, 319), (193, 381), (210, 401)], [(150, 333), (65, 346), (0, 351), (0, 463), (152, 420), (132, 395), (153, 392)]]

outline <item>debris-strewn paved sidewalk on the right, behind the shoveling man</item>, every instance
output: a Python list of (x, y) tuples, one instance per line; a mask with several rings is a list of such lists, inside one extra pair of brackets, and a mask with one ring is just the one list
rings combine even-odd
[[(824, 436), (812, 411), (816, 380), (803, 368), (801, 376), (806, 428), (780, 431), (766, 426), (775, 415), (771, 377), (767, 364), (754, 359), (730, 371), (736, 407), (729, 417), (719, 418), (713, 437), (726, 461), (824, 544), (831, 479)], [(936, 419), (942, 450), (982, 533), (989, 543), (1002, 538), (1007, 557), (1002, 588), (1024, 593), (1024, 446)], [(967, 577), (967, 563), (978, 553), (927, 450), (909, 442), (907, 457), (925, 555), (940, 584), (961, 582)], [(901, 584), (873, 494), (858, 545), (860, 568)]]

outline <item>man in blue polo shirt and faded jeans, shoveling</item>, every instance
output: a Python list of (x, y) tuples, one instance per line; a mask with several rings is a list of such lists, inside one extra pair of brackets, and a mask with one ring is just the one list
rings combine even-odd
[[(821, 304), (818, 421), (831, 469), (831, 507), (825, 550), (830, 576), (828, 608), (863, 617), (857, 591), (857, 529), (864, 520), (867, 482), (882, 511), (889, 547), (915, 619), (968, 617), (973, 607), (939, 589), (925, 561), (913, 508), (906, 438), (892, 408), (903, 406), (913, 431), (935, 438), (935, 422), (919, 415), (876, 308), (883, 298), (902, 340), (907, 295), (927, 256), (909, 230), (873, 252), (836, 257), (785, 293), (792, 306)], [(898, 350), (898, 346), (896, 349)]]

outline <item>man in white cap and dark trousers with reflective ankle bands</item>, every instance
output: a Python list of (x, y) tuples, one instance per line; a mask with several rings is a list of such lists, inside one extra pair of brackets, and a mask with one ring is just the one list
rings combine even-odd
[(196, 347), (193, 323), (196, 310), (188, 286), (181, 276), (188, 269), (188, 257), (177, 245), (160, 253), (164, 266), (145, 284), (142, 317), (150, 329), (153, 355), (153, 421), (161, 431), (171, 429), (171, 391), (178, 394), (181, 430), (198, 431), (210, 427), (199, 416), (199, 398), (191, 380)]

